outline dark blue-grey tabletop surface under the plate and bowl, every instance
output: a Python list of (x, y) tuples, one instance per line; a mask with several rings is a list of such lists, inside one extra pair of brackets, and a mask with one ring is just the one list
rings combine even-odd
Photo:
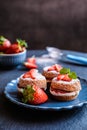
[[(45, 50), (32, 50), (27, 52), (27, 57), (32, 55), (41, 56), (44, 53), (47, 52)], [(73, 52), (65, 51), (65, 53)], [(77, 54), (84, 55), (83, 53)], [(69, 64), (62, 61), (57, 62), (61, 63), (64, 67), (70, 67), (81, 78), (87, 79), (87, 66)], [(0, 68), (0, 130), (87, 129), (87, 105), (64, 111), (39, 111), (20, 107), (8, 101), (3, 93), (6, 84), (24, 72), (26, 72), (26, 69), (20, 66), (12, 69)]]

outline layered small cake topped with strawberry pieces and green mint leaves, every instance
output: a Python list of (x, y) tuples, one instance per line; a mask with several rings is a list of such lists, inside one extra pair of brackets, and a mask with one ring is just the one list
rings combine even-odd
[[(64, 72), (62, 70), (66, 70)], [(69, 101), (75, 99), (81, 90), (80, 80), (74, 72), (63, 68), (57, 77), (53, 78), (50, 86), (51, 95), (60, 101)], [(68, 71), (67, 71), (68, 70)]]

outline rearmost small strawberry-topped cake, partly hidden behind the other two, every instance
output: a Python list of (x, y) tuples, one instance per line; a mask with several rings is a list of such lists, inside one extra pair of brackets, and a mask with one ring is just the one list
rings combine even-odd
[(54, 64), (52, 66), (44, 67), (42, 74), (46, 77), (47, 82), (51, 82), (51, 80), (59, 74), (61, 69), (61, 65)]

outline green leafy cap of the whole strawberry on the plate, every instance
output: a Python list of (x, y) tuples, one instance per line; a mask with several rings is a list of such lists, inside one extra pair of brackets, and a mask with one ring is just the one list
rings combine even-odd
[(33, 86), (27, 86), (23, 90), (23, 98), (22, 102), (27, 103), (28, 101), (32, 101), (34, 99), (34, 93), (35, 90), (33, 89)]

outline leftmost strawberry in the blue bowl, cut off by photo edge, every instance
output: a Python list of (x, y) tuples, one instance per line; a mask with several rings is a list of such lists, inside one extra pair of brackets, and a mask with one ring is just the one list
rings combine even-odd
[(0, 51), (5, 52), (11, 45), (11, 42), (3, 36), (0, 36)]

